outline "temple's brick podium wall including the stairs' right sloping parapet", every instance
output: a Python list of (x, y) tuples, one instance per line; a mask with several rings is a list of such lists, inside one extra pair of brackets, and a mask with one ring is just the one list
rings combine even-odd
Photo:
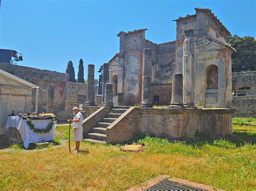
[(122, 143), (142, 132), (153, 137), (177, 140), (232, 135), (231, 109), (130, 108), (107, 127), (107, 143)]

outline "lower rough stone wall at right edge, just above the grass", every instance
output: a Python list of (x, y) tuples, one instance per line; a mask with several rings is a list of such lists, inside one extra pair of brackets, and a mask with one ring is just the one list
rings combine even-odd
[(256, 96), (233, 96), (233, 117), (256, 117)]

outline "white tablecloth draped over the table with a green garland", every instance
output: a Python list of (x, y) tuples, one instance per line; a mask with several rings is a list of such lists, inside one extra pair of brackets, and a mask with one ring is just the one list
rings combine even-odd
[[(36, 129), (46, 129), (51, 123), (51, 119), (37, 119), (31, 120), (31, 122), (35, 125)], [(19, 133), (21, 133), (24, 147), (28, 148), (30, 143), (53, 140), (56, 126), (57, 123), (53, 124), (51, 131), (48, 133), (35, 133), (22, 117), (8, 116), (5, 129), (17, 128)]]

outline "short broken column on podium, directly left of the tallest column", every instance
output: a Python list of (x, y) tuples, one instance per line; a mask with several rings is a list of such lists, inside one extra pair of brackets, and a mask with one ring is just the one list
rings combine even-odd
[(170, 108), (183, 107), (183, 74), (174, 73), (172, 76), (172, 101)]

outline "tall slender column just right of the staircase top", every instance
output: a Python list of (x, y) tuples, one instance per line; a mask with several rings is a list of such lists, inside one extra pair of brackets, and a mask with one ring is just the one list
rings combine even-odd
[(151, 75), (152, 75), (152, 53), (150, 48), (143, 50), (143, 72), (142, 72), (142, 108), (152, 108), (151, 103)]

